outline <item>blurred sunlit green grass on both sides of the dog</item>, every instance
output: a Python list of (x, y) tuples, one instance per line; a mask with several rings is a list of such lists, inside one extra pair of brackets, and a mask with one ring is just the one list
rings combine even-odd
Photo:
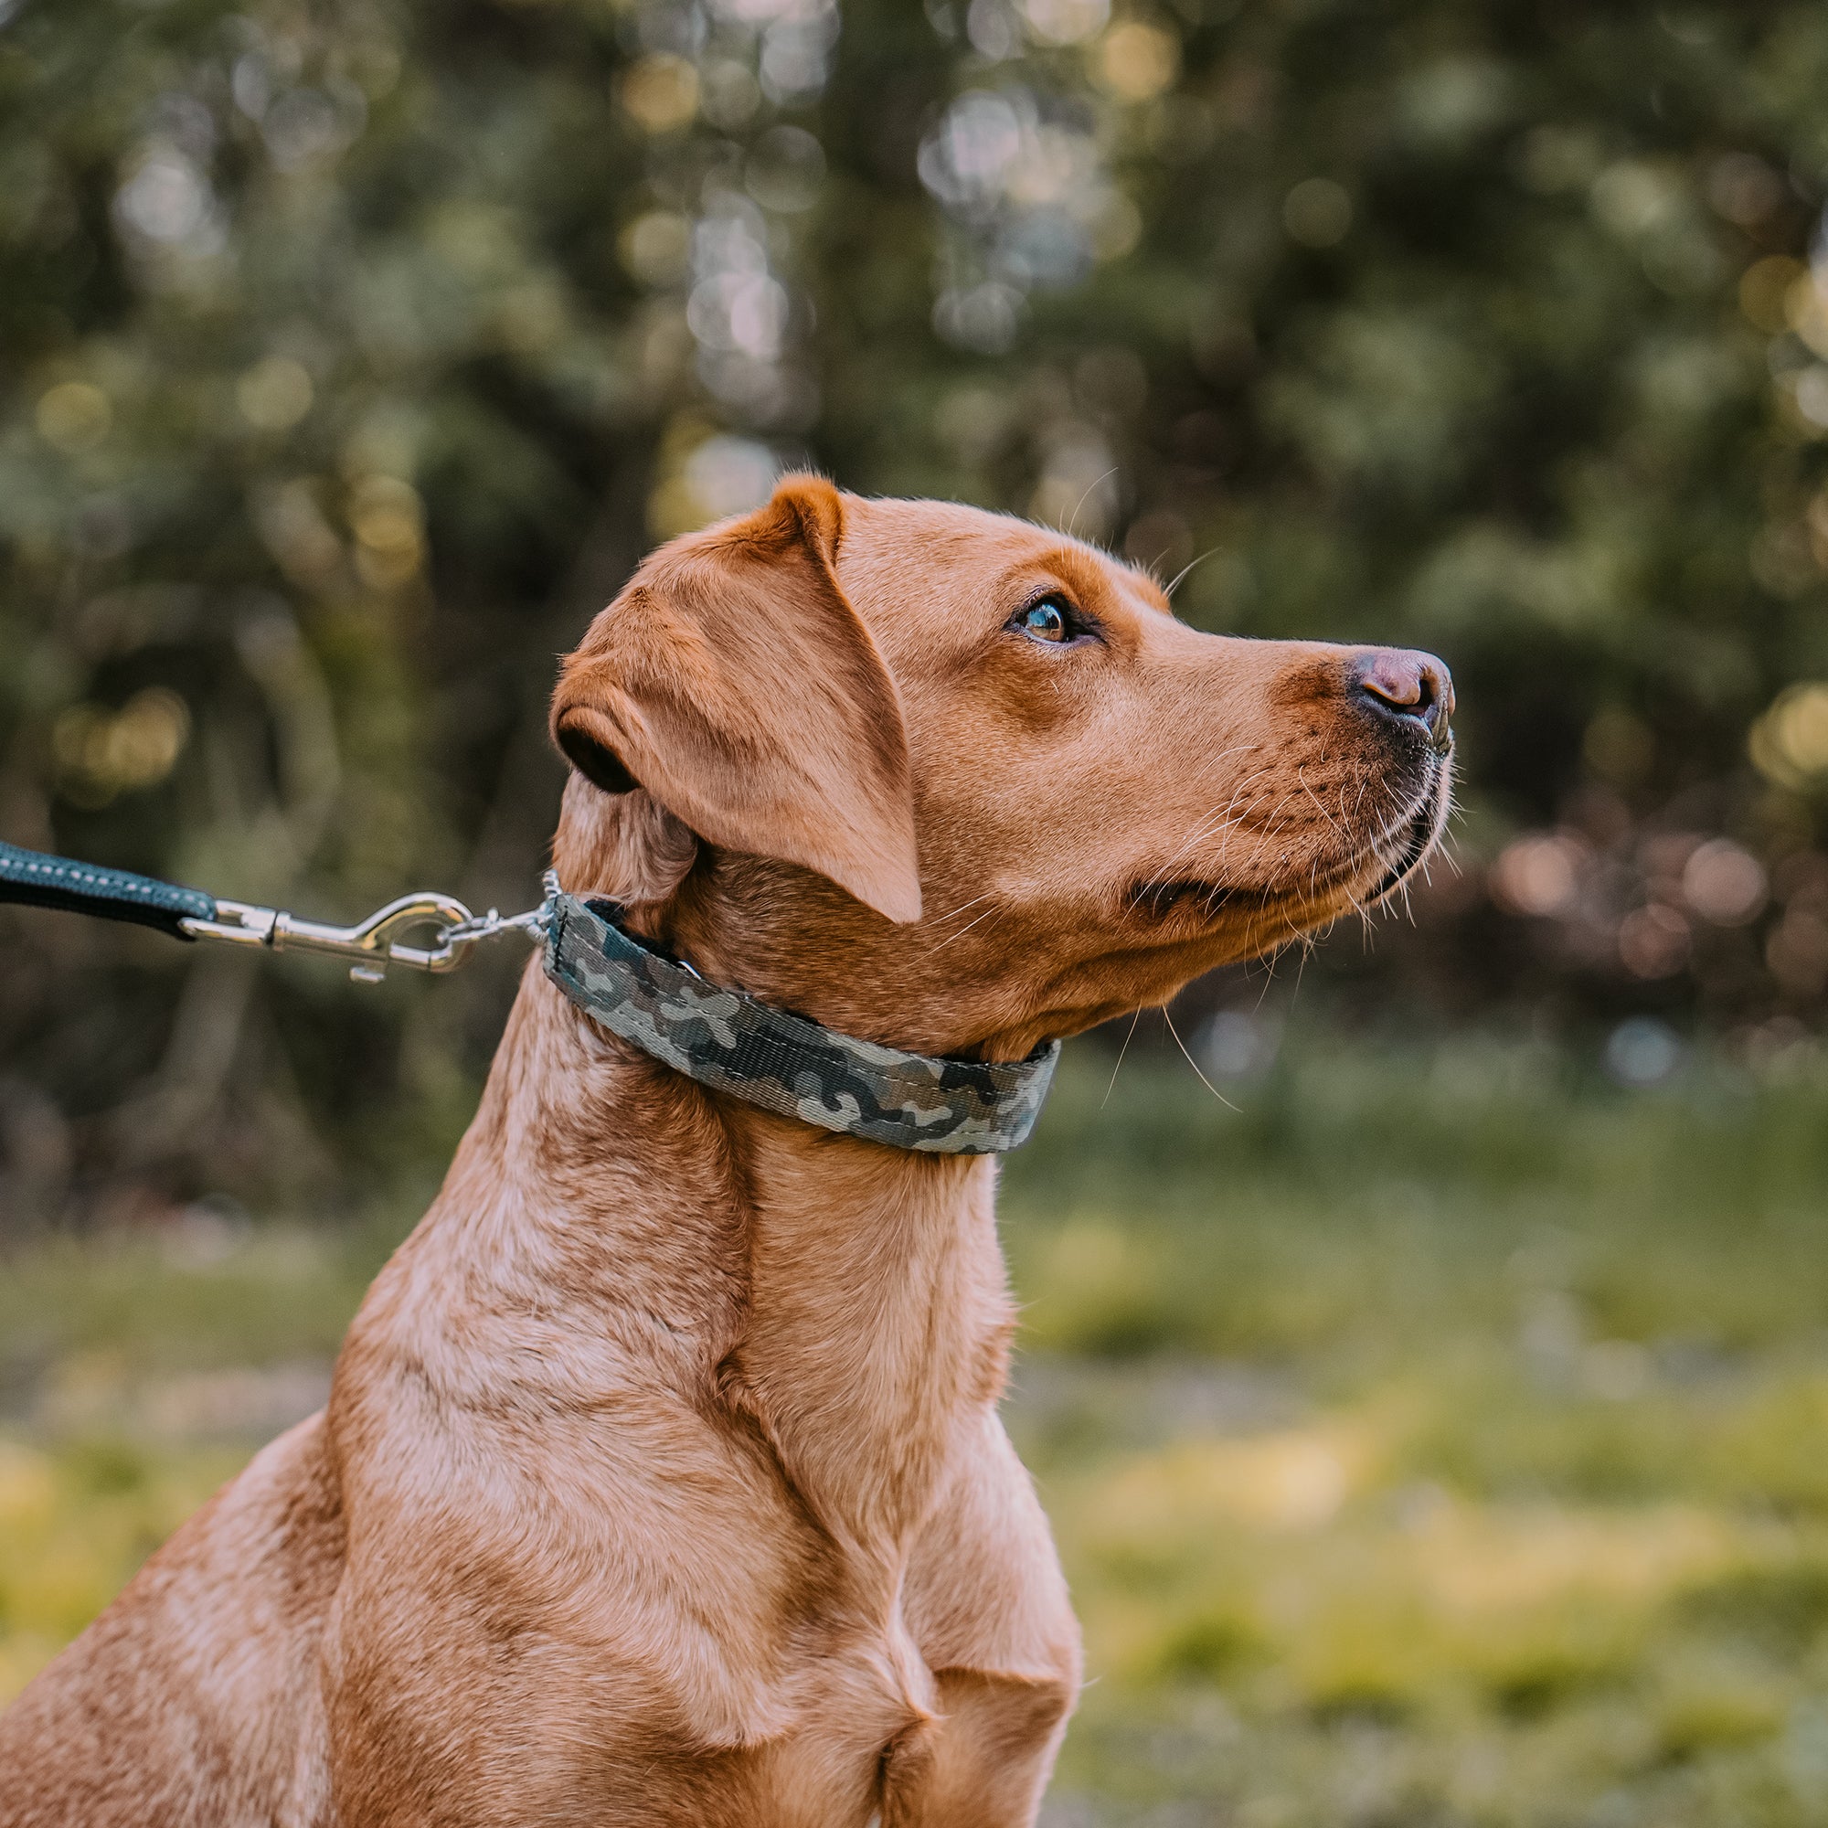
[[(1049, 1821), (1828, 1824), (1828, 1071), (1069, 1051), (1011, 1426), (1093, 1676)], [(0, 1693), (309, 1404), (377, 1238), (0, 1280)]]

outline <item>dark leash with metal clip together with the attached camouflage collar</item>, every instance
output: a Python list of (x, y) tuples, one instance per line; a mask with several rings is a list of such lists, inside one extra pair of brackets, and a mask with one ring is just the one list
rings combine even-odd
[[(552, 870), (543, 885), (545, 899), (526, 914), (472, 914), (452, 896), (417, 894), (355, 927), (329, 927), (0, 843), (0, 901), (133, 921), (177, 940), (327, 952), (351, 962), (356, 983), (378, 983), (389, 965), (455, 971), (483, 940), (519, 932), (543, 945), (552, 983), (612, 1035), (702, 1086), (821, 1130), (918, 1153), (996, 1155), (1035, 1128), (1058, 1042), (1026, 1060), (960, 1060), (841, 1035), (709, 983), (631, 934), (618, 903), (569, 896)], [(413, 932), (422, 943), (404, 943)]]

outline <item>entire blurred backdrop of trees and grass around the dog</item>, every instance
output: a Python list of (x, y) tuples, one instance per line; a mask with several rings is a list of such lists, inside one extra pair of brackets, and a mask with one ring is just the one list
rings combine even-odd
[[(1828, 1823), (1821, 7), (0, 0), (0, 97), (9, 841), (526, 907), (556, 656), (793, 464), (1439, 651), (1433, 879), (1005, 1175), (1049, 1823)], [(0, 1696), (322, 1398), (510, 952), (0, 910)]]

